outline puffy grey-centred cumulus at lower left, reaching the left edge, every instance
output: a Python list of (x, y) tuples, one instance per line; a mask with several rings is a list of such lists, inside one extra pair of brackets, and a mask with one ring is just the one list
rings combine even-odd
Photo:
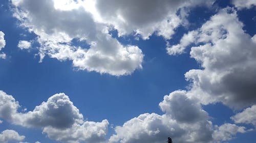
[(84, 121), (79, 110), (63, 93), (55, 94), (33, 111), (18, 112), (19, 104), (0, 91), (0, 118), (24, 127), (42, 128), (51, 139), (64, 142), (100, 142), (105, 140), (109, 122)]

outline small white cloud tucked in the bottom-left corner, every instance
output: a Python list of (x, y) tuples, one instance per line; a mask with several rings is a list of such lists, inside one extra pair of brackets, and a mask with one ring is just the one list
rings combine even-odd
[(24, 138), (24, 135), (19, 135), (14, 130), (4, 130), (0, 133), (0, 142), (2, 143), (7, 143), (9, 141), (22, 141)]

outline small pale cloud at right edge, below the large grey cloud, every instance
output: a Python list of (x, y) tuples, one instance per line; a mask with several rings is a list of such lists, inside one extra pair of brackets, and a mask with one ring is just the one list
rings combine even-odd
[(235, 123), (252, 124), (256, 127), (256, 105), (244, 109), (242, 112), (231, 117)]

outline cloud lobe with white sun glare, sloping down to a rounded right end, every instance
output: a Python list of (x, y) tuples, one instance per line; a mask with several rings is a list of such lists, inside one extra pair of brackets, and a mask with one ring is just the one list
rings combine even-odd
[[(93, 19), (83, 1), (11, 1), (14, 17), (38, 35), (40, 61), (45, 55), (60, 61), (71, 60), (80, 70), (111, 75), (131, 74), (142, 68), (138, 46), (122, 45), (112, 38), (108, 26)], [(87, 42), (88, 47), (72, 45), (72, 40)]]

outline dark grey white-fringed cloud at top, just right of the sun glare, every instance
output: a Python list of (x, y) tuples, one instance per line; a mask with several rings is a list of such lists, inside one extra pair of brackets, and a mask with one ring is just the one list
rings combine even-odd
[(118, 30), (119, 36), (139, 34), (147, 39), (154, 32), (170, 39), (174, 30), (183, 21), (183, 15), (177, 15), (182, 8), (198, 5), (210, 5), (213, 1), (168, 1), (168, 0), (131, 0), (96, 1), (96, 9), (101, 20)]

